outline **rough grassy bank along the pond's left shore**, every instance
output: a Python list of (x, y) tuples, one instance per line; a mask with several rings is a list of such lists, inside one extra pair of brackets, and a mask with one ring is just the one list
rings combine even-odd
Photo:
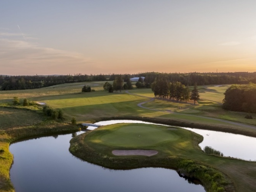
[(48, 134), (77, 131), (79, 128), (66, 123), (46, 120), (36, 112), (14, 108), (0, 108), (0, 192), (14, 191), (10, 180), (13, 156), (9, 145), (16, 140)]

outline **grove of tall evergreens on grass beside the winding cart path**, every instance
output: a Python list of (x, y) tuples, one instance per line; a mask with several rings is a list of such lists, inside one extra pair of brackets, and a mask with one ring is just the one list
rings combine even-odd
[(199, 100), (199, 93), (197, 85), (190, 91), (188, 85), (185, 86), (181, 82), (168, 82), (164, 76), (156, 77), (156, 80), (151, 84), (151, 89), (154, 92), (155, 97), (172, 99), (177, 101)]

